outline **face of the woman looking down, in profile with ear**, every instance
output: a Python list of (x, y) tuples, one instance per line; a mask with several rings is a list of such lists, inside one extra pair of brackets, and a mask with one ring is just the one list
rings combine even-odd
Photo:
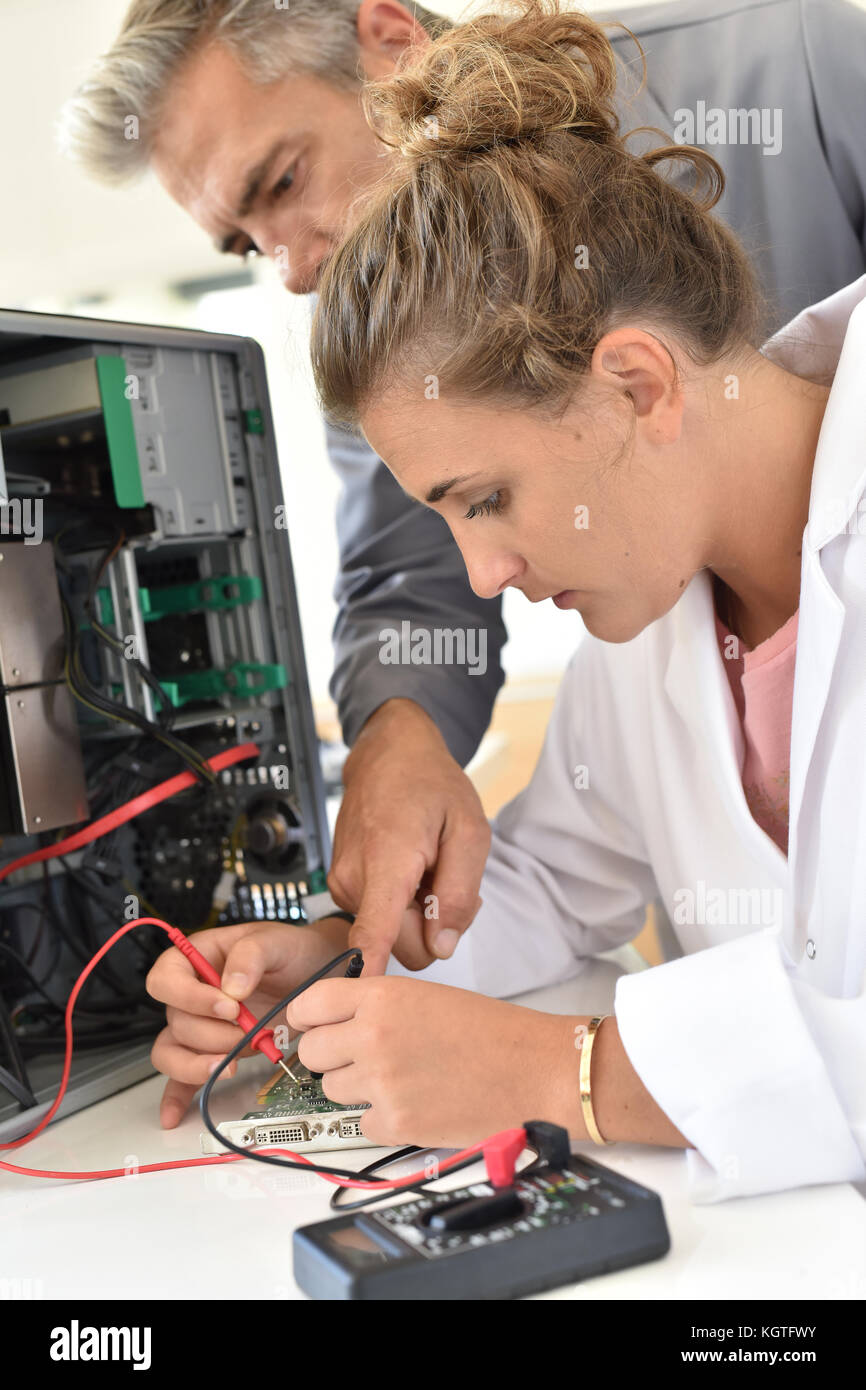
[(424, 388), (364, 413), (364, 435), (400, 486), (448, 521), (475, 594), (552, 599), (577, 609), (595, 637), (624, 642), (703, 566), (699, 460), (673, 363), (666, 379), (653, 343), (637, 356), (614, 345), (614, 373), (602, 354), (556, 423), (537, 410), (428, 400)]

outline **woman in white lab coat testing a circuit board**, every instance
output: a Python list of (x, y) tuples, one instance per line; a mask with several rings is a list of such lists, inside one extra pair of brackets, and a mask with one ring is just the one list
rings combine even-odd
[[(685, 1148), (696, 1200), (862, 1180), (866, 278), (760, 350), (717, 165), (632, 156), (613, 82), (598, 25), (527, 0), (373, 89), (396, 156), (320, 284), (322, 403), (445, 517), (478, 594), (589, 635), (453, 958), (288, 1017), (382, 1144), (541, 1116)], [(684, 955), (621, 979), (601, 1026), (495, 998), (631, 940), (656, 895)], [(214, 963), (256, 1012), (345, 934), (229, 927)], [(157, 998), (234, 1016), (171, 956)], [(231, 1045), (193, 1022), (199, 1052)], [(200, 1066), (161, 1065), (175, 1112)]]

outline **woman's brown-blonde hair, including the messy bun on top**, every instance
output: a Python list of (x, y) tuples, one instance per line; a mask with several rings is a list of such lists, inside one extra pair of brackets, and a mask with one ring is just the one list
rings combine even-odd
[[(759, 341), (755, 274), (710, 214), (716, 160), (631, 153), (602, 26), (559, 0), (516, 8), (364, 90), (395, 157), (318, 285), (313, 366), (338, 423), (431, 374), (441, 392), (559, 409), (599, 338), (635, 317), (705, 364)], [(689, 190), (662, 177), (667, 160), (691, 163)]]

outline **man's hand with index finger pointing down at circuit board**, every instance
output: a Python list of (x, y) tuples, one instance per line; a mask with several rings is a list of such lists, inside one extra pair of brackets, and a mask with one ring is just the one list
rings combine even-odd
[(475, 788), (409, 699), (370, 716), (343, 781), (328, 887), (356, 913), (349, 944), (364, 977), (382, 974), (392, 949), (409, 970), (450, 956), (481, 906), (491, 845)]

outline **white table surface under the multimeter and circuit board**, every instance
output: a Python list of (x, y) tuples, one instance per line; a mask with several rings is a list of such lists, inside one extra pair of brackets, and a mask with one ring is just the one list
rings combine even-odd
[[(557, 1013), (605, 1012), (620, 973), (619, 965), (595, 960), (580, 977), (521, 1002)], [(239, 1070), (217, 1091), (217, 1120), (252, 1108), (257, 1079), (271, 1066), (256, 1058)], [(197, 1156), (197, 1109), (177, 1130), (160, 1130), (161, 1090), (163, 1077), (152, 1077), (1, 1156), (76, 1170)], [(866, 1200), (855, 1187), (698, 1207), (685, 1195), (683, 1154), (582, 1148), (660, 1193), (671, 1251), (539, 1297), (866, 1298)], [(384, 1151), (345, 1151), (334, 1161), (361, 1166), (377, 1152)], [(38, 1280), (43, 1298), (303, 1298), (292, 1277), (292, 1232), (325, 1219), (329, 1194), (314, 1175), (243, 1161), (106, 1182), (0, 1172), (0, 1279)]]

